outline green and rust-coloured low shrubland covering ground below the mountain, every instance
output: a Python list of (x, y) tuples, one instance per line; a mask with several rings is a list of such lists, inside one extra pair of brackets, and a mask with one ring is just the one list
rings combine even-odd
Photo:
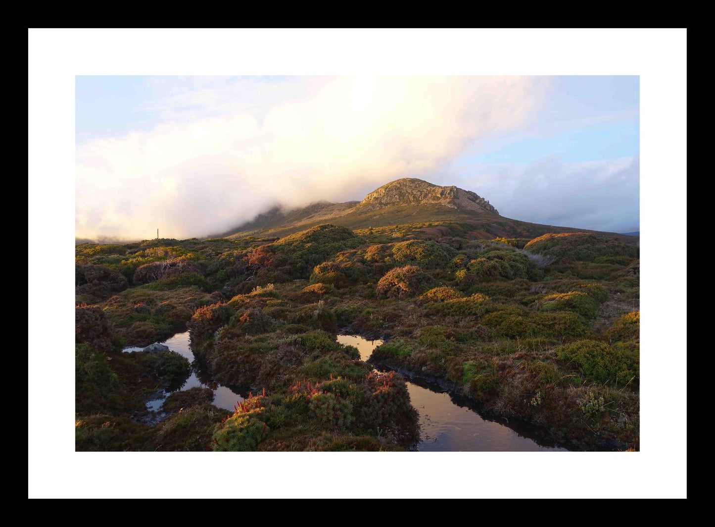
[[(418, 438), (395, 372), (584, 450), (638, 449), (638, 248), (596, 233), (477, 239), (465, 223), (318, 225), (285, 238), (82, 244), (78, 450), (393, 450)], [(637, 240), (637, 238), (633, 238)], [(189, 374), (171, 352), (122, 353), (189, 329), (211, 390), (144, 400)], [(182, 362), (183, 359), (183, 362)]]

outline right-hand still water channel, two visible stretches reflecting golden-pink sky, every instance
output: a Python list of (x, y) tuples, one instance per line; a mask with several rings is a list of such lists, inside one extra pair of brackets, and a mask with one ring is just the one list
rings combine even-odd
[[(340, 344), (360, 350), (367, 361), (373, 349), (383, 343), (358, 335), (338, 335)], [(539, 430), (529, 425), (508, 424), (481, 417), (468, 400), (450, 395), (437, 385), (407, 379), (410, 401), (420, 414), (420, 442), (417, 450), (445, 451), (536, 451), (566, 450), (539, 437)]]

